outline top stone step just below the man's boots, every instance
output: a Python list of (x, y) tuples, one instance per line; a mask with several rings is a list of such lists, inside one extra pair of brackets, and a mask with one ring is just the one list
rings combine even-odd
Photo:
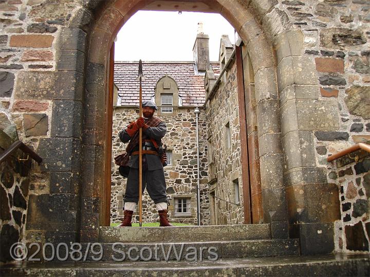
[(115, 242), (197, 242), (270, 239), (269, 224), (100, 227), (99, 241)]

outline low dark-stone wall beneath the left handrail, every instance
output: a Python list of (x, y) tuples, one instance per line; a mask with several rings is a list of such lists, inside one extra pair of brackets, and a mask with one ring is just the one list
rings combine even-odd
[[(0, 130), (0, 153), (14, 140)], [(21, 150), (17, 150), (0, 165), (0, 261), (11, 261), (12, 244), (25, 242), (26, 216), (28, 209), (29, 171), (31, 158), (27, 161)]]

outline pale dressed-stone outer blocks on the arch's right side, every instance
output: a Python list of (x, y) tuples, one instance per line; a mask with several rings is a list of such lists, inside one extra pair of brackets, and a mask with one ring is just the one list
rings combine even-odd
[(281, 33), (274, 44), (289, 235), (300, 239), (302, 254), (330, 253), (333, 222), (340, 218), (338, 188), (316, 166), (313, 132), (338, 129), (337, 104), (319, 100), (315, 64), (301, 55), (301, 31)]

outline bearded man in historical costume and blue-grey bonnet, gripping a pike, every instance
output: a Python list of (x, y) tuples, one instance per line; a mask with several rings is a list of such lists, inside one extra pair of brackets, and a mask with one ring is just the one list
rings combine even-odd
[(119, 132), (119, 138), (123, 143), (128, 143), (126, 152), (130, 155), (128, 167), (130, 171), (127, 177), (126, 191), (124, 195), (124, 217), (120, 226), (132, 226), (133, 211), (139, 201), (139, 128), (142, 128), (142, 192), (145, 186), (151, 199), (157, 206), (159, 213), (159, 226), (173, 226), (168, 220), (166, 184), (161, 157), (158, 154), (158, 146), (165, 135), (167, 128), (159, 117), (153, 116), (158, 110), (153, 101), (142, 102), (143, 117), (130, 123), (124, 130)]

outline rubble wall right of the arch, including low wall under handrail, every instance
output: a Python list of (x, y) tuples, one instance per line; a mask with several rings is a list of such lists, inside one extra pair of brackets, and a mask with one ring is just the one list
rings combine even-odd
[[(332, 109), (332, 117), (320, 117), (318, 106), (307, 123), (320, 122), (313, 137), (316, 165), (326, 169), (328, 182), (336, 183), (339, 190), (341, 220), (334, 226), (335, 250), (368, 250), (368, 160), (337, 168), (338, 162), (327, 163), (326, 158), (370, 138), (370, 5), (362, 0), (282, 4), (291, 22), (302, 29), (305, 54), (316, 66), (320, 91), (317, 102), (311, 104), (327, 103), (321, 108)], [(304, 113), (303, 107), (300, 110)], [(298, 122), (300, 128), (305, 124)]]

